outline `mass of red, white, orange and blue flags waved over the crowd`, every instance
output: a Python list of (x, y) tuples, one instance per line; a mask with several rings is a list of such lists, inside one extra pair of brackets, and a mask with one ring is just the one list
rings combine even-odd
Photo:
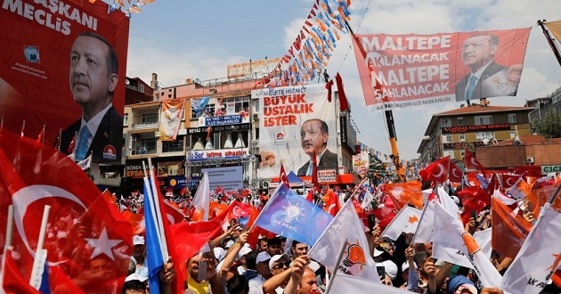
[[(132, 236), (142, 234), (146, 236), (150, 291), (159, 293), (170, 287), (180, 292), (183, 279), (164, 285), (160, 273), (167, 270), (167, 265), (173, 265), (178, 277), (186, 276), (185, 260), (207, 247), (235, 219), (247, 225), (248, 239), (253, 239), (248, 244), (254, 247), (258, 238), (275, 235), (309, 244), (308, 256), (331, 273), (328, 283), (331, 291), (363, 285), (388, 293), (399, 292), (378, 282), (372, 241), (365, 234), (369, 233), (365, 226), (367, 216), (374, 214), (379, 216), (378, 227), (383, 230), (378, 232), (380, 238), (396, 241), (405, 234), (412, 235), (414, 244), (432, 242), (432, 257), (473, 269), (481, 287), (499, 287), (510, 293), (538, 293), (551, 280), (557, 282), (561, 276), (557, 274), (561, 248), (556, 240), (561, 231), (556, 231), (559, 228), (555, 224), (561, 221), (557, 219), (561, 200), (556, 195), (561, 179), (535, 178), (532, 169), (522, 167), (516, 168), (519, 173), (516, 176), (492, 173), (479, 163), (475, 154), (466, 154), (469, 164), (464, 166), (479, 175), (461, 171), (459, 175), (459, 168), (447, 157), (421, 171), (424, 181), (433, 182), (432, 188), (426, 191), (421, 191), (418, 181), (378, 187), (361, 184), (354, 190), (348, 189), (345, 197), (341, 197), (340, 189), (320, 187), (319, 191), (313, 191), (321, 197), (313, 197), (312, 201), (285, 184), (288, 177), (284, 168), (280, 171), (282, 183), (268, 200), (257, 195), (242, 196), (244, 193), (234, 196), (223, 188), (211, 192), (205, 174), (192, 203), (183, 210), (163, 200), (149, 161), (142, 192), (142, 214), (135, 214), (128, 210), (121, 213), (118, 208), (123, 200), (117, 200), (110, 192), (99, 192), (85, 173), (77, 173), (80, 168), (74, 161), (61, 152), (37, 140), (1, 131), (0, 192), (9, 197), (0, 199), (0, 209), (7, 211), (9, 205), (14, 207), (11, 242), (18, 246), (4, 249), (0, 281), (4, 290), (21, 293), (117, 289), (126, 276)], [(63, 180), (69, 174), (82, 176), (74, 176), (74, 183), (69, 184)], [(456, 195), (457, 202), (453, 200)], [(463, 204), (463, 208), (457, 203)], [(80, 258), (58, 251), (52, 244), (56, 236), (46, 229), (45, 246), (36, 241), (42, 234), (39, 217), (28, 211), (37, 210), (39, 205), (52, 207), (51, 214), (45, 216), (49, 223), (68, 217), (69, 224), (95, 230), (87, 237), (74, 239)], [(484, 219), (486, 214), (492, 217)], [(538, 221), (531, 216), (538, 217)], [(474, 218), (489, 228), (476, 231), (471, 225)], [(11, 219), (0, 216), (0, 225), (7, 228)], [(36, 282), (29, 283), (33, 264), (41, 263), (42, 248), (47, 250), (44, 270), (39, 274), (34, 272)], [(491, 248), (501, 256), (514, 259), (506, 273), (501, 272), (503, 275), (490, 260)], [(12, 258), (15, 249), (19, 250), (19, 259)], [(89, 263), (101, 261), (122, 270), (108, 274), (105, 280), (87, 282), (89, 266), (93, 266)], [(75, 282), (76, 279), (86, 282)]]

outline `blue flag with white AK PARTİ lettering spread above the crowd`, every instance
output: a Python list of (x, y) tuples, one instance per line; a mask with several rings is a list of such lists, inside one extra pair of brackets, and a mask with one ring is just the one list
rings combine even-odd
[(261, 211), (255, 225), (310, 246), (315, 244), (333, 219), (329, 213), (284, 184), (270, 202)]

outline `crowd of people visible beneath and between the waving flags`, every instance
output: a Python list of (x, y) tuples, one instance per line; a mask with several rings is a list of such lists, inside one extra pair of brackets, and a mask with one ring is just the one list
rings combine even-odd
[[(461, 211), (461, 200), (453, 196), (459, 186), (448, 184), (445, 187), (451, 192), (451, 199)], [(388, 197), (381, 192), (383, 189), (380, 187), (364, 186), (353, 190), (336, 190), (337, 196), (342, 202), (360, 202), (365, 197), (362, 192), (378, 192), (371, 200), (371, 203), (377, 203), (378, 208), (384, 206)], [(320, 192), (316, 193), (314, 203), (322, 207), (326, 204), (321, 196)], [(190, 196), (187, 195), (183, 200), (189, 203), (189, 199)], [(223, 195), (214, 195), (212, 199), (235, 200), (224, 198)], [(267, 199), (263, 195), (258, 198), (248, 195), (240, 200), (263, 206)], [(491, 208), (485, 207), (478, 215), (469, 217), (465, 231), (473, 235), (489, 228), (492, 224), (491, 213)], [(531, 209), (524, 209), (520, 214), (527, 222), (535, 222)], [(188, 215), (185, 221), (190, 221)], [(245, 228), (246, 222), (247, 219), (244, 218), (230, 219), (224, 225), (224, 233), (209, 241), (209, 250), (201, 250), (188, 260), (177, 261), (184, 262), (187, 267), (186, 277), (175, 277), (173, 273), (174, 278), (184, 280), (185, 293), (325, 293), (329, 277), (333, 273), (332, 269), (307, 256), (313, 244), (287, 240), (280, 235), (271, 238), (260, 235), (256, 244), (251, 246), (248, 242), (250, 232)], [(396, 240), (392, 240), (380, 236), (382, 229), (379, 224), (371, 230), (365, 225), (364, 233), (369, 241), (371, 257), (377, 264), (380, 282), (387, 287), (414, 293), (503, 293), (498, 288), (484, 288), (473, 269), (435, 259), (431, 242), (411, 243), (411, 233), (402, 233)], [(146, 250), (142, 236), (134, 237), (134, 247), (134, 256), (129, 266), (130, 275), (123, 293), (144, 292), (147, 286)], [(513, 258), (501, 257), (494, 250), (491, 259), (500, 274), (504, 274), (513, 261)], [(172, 276), (170, 273), (163, 273), (162, 277), (164, 274)], [(559, 292), (561, 288), (551, 282), (541, 291)]]

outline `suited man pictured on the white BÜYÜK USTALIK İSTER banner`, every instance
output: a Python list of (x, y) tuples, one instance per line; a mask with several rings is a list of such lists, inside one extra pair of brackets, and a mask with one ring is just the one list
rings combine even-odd
[(302, 149), (310, 159), (304, 166), (298, 168), (298, 176), (312, 176), (314, 151), (318, 170), (335, 169), (337, 171), (337, 153), (327, 149), (329, 128), (325, 121), (319, 118), (306, 120), (300, 127), (300, 139)]

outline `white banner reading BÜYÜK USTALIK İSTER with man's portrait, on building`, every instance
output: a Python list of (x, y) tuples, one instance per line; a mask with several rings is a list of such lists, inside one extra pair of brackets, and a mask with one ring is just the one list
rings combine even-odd
[(337, 174), (335, 103), (325, 84), (286, 86), (251, 92), (259, 100), (260, 178), (287, 172), (311, 176), (313, 154), (318, 176)]

